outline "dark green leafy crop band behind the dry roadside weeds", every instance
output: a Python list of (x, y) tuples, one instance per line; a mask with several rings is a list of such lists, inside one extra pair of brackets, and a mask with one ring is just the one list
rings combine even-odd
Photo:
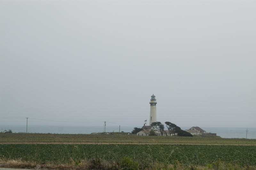
[(120, 162), (129, 159), (138, 168), (148, 163), (207, 166), (222, 161), (239, 166), (256, 166), (256, 146), (243, 145), (64, 145), (64, 144), (3, 144), (0, 158), (21, 159), (37, 164), (79, 165), (82, 160), (100, 159)]

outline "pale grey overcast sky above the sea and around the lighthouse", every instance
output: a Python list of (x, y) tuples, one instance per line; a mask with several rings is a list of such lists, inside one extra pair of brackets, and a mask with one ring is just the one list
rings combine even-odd
[(256, 127), (255, 9), (254, 0), (0, 0), (0, 117), (141, 126), (154, 94), (163, 123)]

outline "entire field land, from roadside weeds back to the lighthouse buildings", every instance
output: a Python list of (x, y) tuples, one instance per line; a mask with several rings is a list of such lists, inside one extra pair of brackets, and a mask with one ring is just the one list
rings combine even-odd
[(0, 167), (256, 170), (256, 139), (0, 133)]

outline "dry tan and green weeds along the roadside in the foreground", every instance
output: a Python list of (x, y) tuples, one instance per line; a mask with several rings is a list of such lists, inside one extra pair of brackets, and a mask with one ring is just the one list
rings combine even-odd
[[(29, 169), (61, 169), (61, 170), (137, 170), (142, 169), (141, 166), (132, 161), (131, 159), (124, 158), (119, 162), (109, 162), (101, 159), (82, 160), (79, 165), (75, 163), (69, 164), (50, 164), (45, 163), (43, 165), (36, 164), (35, 162), (28, 162), (23, 160), (9, 160), (7, 162), (0, 160), (2, 167), (11, 168), (29, 168)], [(223, 161), (216, 161), (209, 163), (205, 166), (198, 165), (184, 165), (180, 162), (175, 164), (162, 164), (162, 163), (148, 163), (146, 170), (256, 170), (255, 166), (240, 166), (238, 164), (230, 164)]]

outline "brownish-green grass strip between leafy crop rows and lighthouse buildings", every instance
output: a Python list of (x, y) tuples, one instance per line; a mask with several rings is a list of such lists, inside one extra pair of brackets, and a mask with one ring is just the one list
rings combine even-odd
[(0, 144), (5, 143), (76, 143), (76, 144), (198, 144), (198, 145), (256, 145), (256, 139), (218, 137), (162, 137), (136, 135), (40, 134), (0, 133)]

